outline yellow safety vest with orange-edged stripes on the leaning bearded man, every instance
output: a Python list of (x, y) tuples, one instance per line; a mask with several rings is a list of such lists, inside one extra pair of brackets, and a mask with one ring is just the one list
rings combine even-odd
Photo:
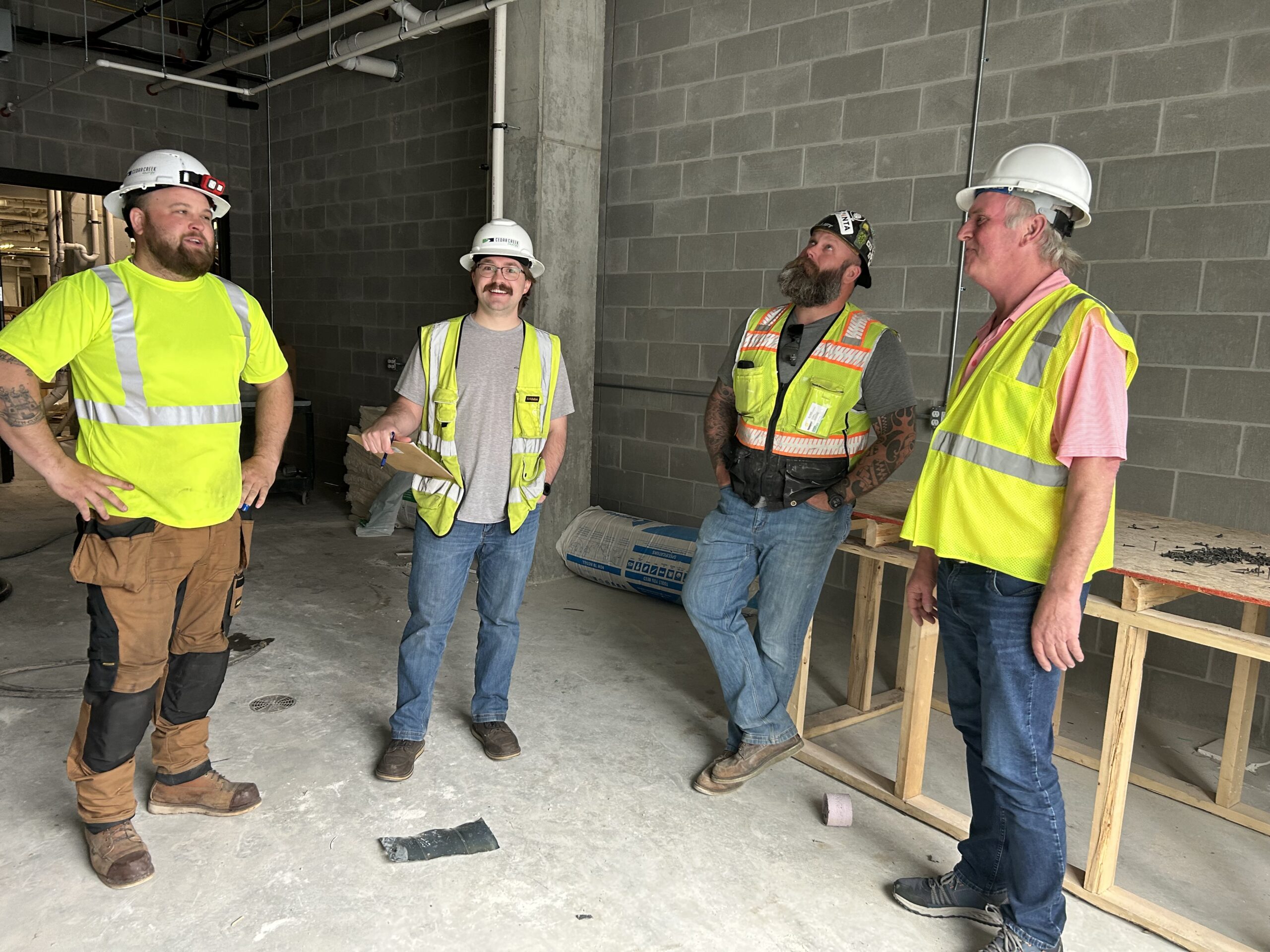
[(737, 440), (751, 449), (791, 457), (848, 457), (853, 466), (869, 446), (871, 420), (860, 401), (860, 382), (874, 347), (886, 330), (848, 303), (785, 388), (780, 390), (776, 350), (794, 305), (759, 308), (749, 315), (737, 349), (732, 386), (737, 393)]

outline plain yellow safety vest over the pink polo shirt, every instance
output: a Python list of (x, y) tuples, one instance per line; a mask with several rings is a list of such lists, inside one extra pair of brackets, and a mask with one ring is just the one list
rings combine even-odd
[[(1050, 434), (1058, 388), (1093, 312), (1125, 352), (1125, 386), (1138, 369), (1133, 338), (1106, 305), (1074, 284), (1038, 301), (1005, 333), (963, 383), (931, 440), (900, 534), (914, 546), (1045, 584), (1058, 545), (1067, 467)], [(1109, 569), (1115, 495), (1086, 581)]]

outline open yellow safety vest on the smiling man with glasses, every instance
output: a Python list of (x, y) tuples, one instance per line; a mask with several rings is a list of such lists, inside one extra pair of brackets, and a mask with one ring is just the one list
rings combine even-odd
[[(437, 536), (450, 532), (464, 500), (464, 477), (458, 471), (458, 449), (455, 442), (458, 338), (465, 317), (453, 317), (419, 330), (419, 358), (428, 393), (423, 406), (419, 446), (455, 477), (453, 482), (415, 477), (414, 499), (419, 518)], [(512, 480), (507, 495), (507, 518), (512, 523), (512, 532), (521, 528), (542, 495), (546, 470), (542, 448), (547, 443), (551, 405), (560, 373), (560, 338), (537, 330), (527, 321), (522, 324), (525, 343), (512, 407)]]

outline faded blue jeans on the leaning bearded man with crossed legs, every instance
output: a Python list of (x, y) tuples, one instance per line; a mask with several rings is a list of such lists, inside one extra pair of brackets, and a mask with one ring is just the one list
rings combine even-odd
[[(742, 741), (784, 744), (798, 734), (785, 706), (829, 560), (850, 529), (848, 505), (832, 513), (806, 503), (754, 509), (728, 487), (701, 523), (683, 607), (732, 713), (729, 750)], [(751, 635), (740, 609), (756, 575), (758, 625)]]

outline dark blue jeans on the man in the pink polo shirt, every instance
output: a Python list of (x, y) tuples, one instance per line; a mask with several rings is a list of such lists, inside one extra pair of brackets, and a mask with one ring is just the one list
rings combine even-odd
[(1067, 819), (1050, 724), (1062, 671), (1041, 669), (1031, 649), (1045, 586), (949, 559), (936, 584), (949, 708), (970, 781), (956, 868), (980, 892), (1005, 890), (1006, 924), (1052, 948), (1067, 922)]

